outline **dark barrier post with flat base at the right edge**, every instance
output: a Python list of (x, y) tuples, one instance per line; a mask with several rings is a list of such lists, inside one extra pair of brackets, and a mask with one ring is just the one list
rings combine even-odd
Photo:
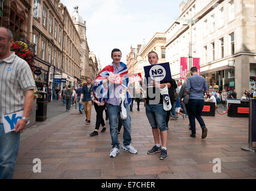
[(252, 147), (252, 143), (256, 142), (256, 99), (250, 98), (249, 100), (249, 136), (248, 146), (241, 147), (242, 150), (249, 152), (256, 152), (256, 147)]

